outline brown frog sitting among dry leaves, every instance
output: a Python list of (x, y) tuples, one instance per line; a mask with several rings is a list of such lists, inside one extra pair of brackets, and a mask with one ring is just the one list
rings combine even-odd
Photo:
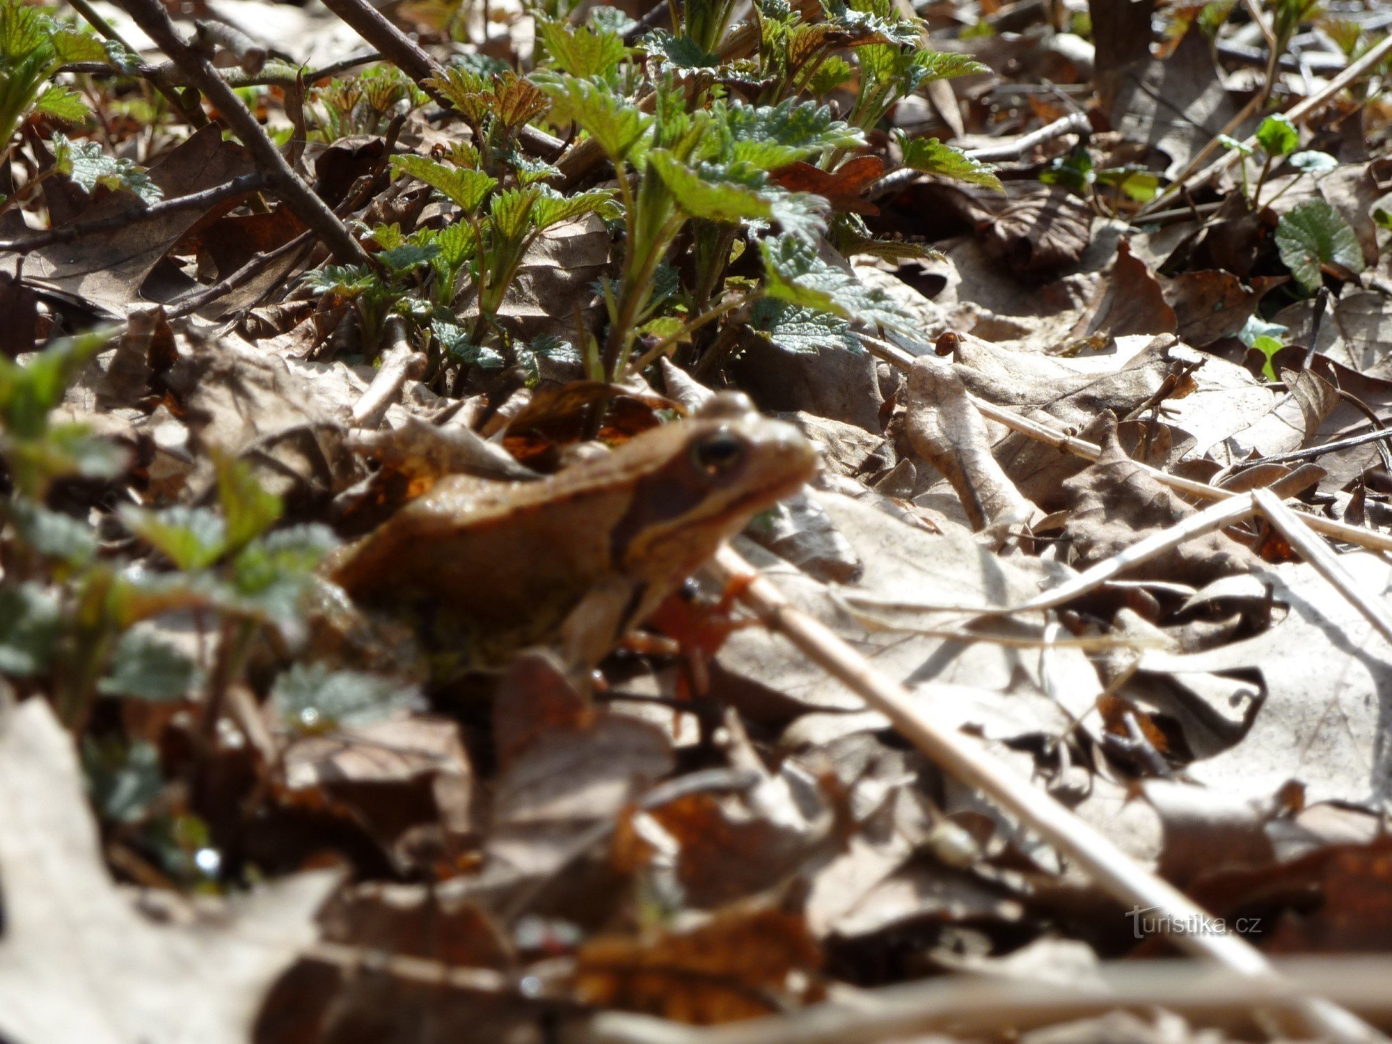
[(323, 575), (470, 667), (544, 646), (593, 668), (818, 461), (795, 426), (722, 393), (536, 482), (441, 477)]

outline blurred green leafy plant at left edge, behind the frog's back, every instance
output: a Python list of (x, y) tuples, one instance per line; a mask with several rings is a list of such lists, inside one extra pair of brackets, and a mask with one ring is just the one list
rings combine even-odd
[(217, 511), (120, 512), (157, 553), (152, 561), (99, 555), (93, 526), (49, 498), (57, 482), (113, 479), (125, 468), (113, 443), (52, 418), (104, 342), (104, 334), (56, 341), (25, 366), (0, 358), (0, 459), (11, 484), (0, 500), (0, 674), (43, 685), (74, 727), (99, 696), (178, 699), (198, 683), (192, 661), (138, 626), (175, 611), (203, 614), (220, 631), (206, 704), (216, 707), (260, 628), (299, 625), (312, 571), (334, 544), (323, 526), (271, 532), (280, 501), (227, 459)]

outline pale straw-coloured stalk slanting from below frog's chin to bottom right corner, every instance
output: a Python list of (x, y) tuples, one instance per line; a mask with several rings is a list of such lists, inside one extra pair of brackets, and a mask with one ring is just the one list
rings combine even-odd
[[(778, 587), (738, 553), (722, 548), (710, 568), (728, 590), (741, 592), (741, 601), (766, 626), (792, 642), (803, 656), (860, 696), (870, 709), (889, 718), (899, 735), (920, 753), (1015, 816), (1026, 830), (1037, 832), (1086, 870), (1114, 899), (1154, 917), (1175, 947), (1243, 976), (1274, 977), (1271, 965), (1254, 947), (1236, 934), (1196, 927), (1211, 924), (1212, 915), (1172, 884), (1137, 864), (1115, 842), (1045, 791), (1006, 768), (976, 739), (930, 718), (913, 693), (881, 674), (821, 621), (789, 603)], [(1307, 1029), (1327, 1038), (1367, 1041), (1378, 1037), (1371, 1027), (1347, 1012), (1320, 1001), (1288, 1005), (1276, 994), (1274, 1004), (1299, 1012)]]

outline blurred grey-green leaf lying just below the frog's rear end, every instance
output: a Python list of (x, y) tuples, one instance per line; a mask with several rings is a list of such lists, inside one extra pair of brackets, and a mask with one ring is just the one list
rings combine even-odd
[(423, 710), (415, 685), (324, 664), (295, 664), (276, 678), (270, 706), (291, 729), (319, 732), (370, 725), (398, 711)]

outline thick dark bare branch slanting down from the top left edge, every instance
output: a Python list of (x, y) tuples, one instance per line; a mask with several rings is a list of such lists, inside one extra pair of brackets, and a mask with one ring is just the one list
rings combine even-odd
[(145, 29), (160, 50), (168, 54), (170, 60), (184, 71), (193, 86), (207, 95), (209, 100), (217, 106), (217, 110), (251, 152), (252, 159), (270, 178), (276, 193), (285, 200), (295, 216), (309, 226), (341, 262), (369, 264), (367, 252), (324, 200), (316, 196), (291, 170), (285, 157), (280, 155), (280, 149), (266, 135), (266, 128), (256, 122), (256, 117), (242, 104), (237, 92), (217, 74), (207, 58), (174, 31), (174, 25), (159, 0), (124, 0), (124, 4), (136, 25)]

